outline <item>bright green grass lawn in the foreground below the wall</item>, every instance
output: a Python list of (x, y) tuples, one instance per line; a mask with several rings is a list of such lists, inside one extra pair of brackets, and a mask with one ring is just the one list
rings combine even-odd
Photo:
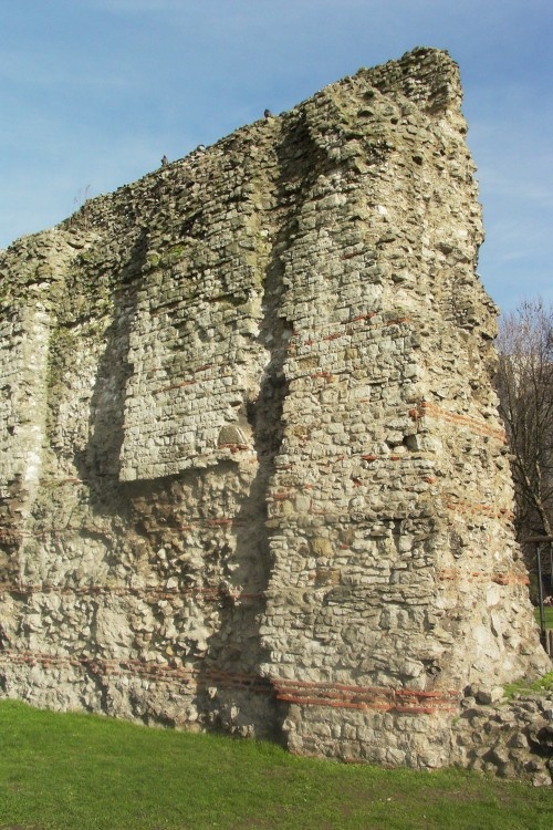
[(1, 830), (551, 830), (549, 788), (0, 702)]

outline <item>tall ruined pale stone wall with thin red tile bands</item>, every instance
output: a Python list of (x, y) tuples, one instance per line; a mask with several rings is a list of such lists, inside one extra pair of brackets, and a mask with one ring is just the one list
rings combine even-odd
[(417, 49), (1, 253), (3, 696), (440, 767), (551, 667), (460, 102)]

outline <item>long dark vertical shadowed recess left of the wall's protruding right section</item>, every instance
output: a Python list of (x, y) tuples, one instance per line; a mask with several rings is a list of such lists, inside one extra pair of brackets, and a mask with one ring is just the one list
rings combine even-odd
[[(239, 567), (233, 574), (234, 583), (240, 584), (240, 590), (244, 594), (260, 592), (261, 596), (242, 610), (232, 603), (222, 609), (221, 624), (210, 639), (209, 652), (201, 665), (198, 685), (200, 688), (208, 687), (210, 673), (215, 668), (229, 673), (232, 670), (239, 671), (255, 678), (252, 691), (260, 694), (257, 695), (255, 706), (252, 706), (250, 693), (247, 720), (254, 724), (255, 734), (285, 743), (282, 726), (288, 706), (275, 704), (271, 682), (262, 679), (265, 677), (267, 666), (271, 663), (271, 653), (260, 635), (260, 625), (265, 614), (265, 592), (274, 569), (271, 551), (272, 531), (268, 528), (268, 502), (275, 460), (281, 452), (284, 435), (283, 409), (289, 395), (285, 362), (293, 334), (292, 323), (283, 313), (288, 288), (282, 255), (289, 251), (291, 240), (298, 232), (298, 217), (301, 215), (304, 200), (309, 198), (307, 194), (320, 168), (332, 163), (313, 142), (309, 123), (303, 117), (294, 118), (286, 125), (276, 153), (278, 178), (273, 184), (267, 183), (267, 191), (273, 189), (274, 208), (268, 224), (272, 220), (274, 236), (271, 238), (269, 257), (262, 267), (263, 294), (257, 338), (257, 344), (262, 346), (268, 360), (262, 369), (258, 394), (243, 402), (241, 413), (243, 422), (251, 429), (258, 467), (248, 496), (242, 500), (237, 516), (236, 557)], [(259, 259), (261, 260), (262, 256)], [(233, 695), (225, 689), (222, 693), (223, 706), (217, 698), (210, 701), (207, 693), (200, 692), (198, 708), (206, 712), (208, 723), (228, 728), (225, 708), (229, 708)], [(243, 705), (243, 692), (234, 697), (238, 704), (242, 701)], [(259, 719), (260, 712), (265, 713), (264, 720)], [(230, 728), (236, 729), (237, 724), (240, 730), (239, 718), (234, 724), (230, 724)]]

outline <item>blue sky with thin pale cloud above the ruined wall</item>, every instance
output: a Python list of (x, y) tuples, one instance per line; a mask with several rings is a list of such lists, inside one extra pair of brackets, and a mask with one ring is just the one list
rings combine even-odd
[(0, 0), (0, 247), (325, 84), (460, 64), (504, 311), (553, 301), (552, 0)]

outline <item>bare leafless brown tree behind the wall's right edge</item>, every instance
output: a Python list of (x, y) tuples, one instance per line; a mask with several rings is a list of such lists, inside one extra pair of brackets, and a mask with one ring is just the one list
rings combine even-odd
[(500, 320), (497, 390), (515, 488), (515, 530), (553, 528), (553, 305), (525, 300)]

